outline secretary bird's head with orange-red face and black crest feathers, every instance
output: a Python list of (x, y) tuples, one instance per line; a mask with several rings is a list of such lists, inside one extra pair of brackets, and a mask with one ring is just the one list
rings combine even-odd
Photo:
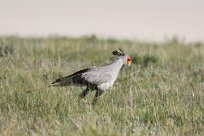
[(121, 58), (124, 65), (131, 65), (132, 59), (129, 55), (125, 54), (122, 49), (119, 48), (119, 51), (115, 50), (112, 52), (113, 56), (116, 58)]

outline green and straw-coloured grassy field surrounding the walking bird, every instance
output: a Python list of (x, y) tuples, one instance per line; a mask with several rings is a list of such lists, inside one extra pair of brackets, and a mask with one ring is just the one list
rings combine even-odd
[[(48, 86), (60, 76), (133, 58), (95, 106), (94, 92)], [(28, 93), (30, 92), (30, 93)], [(204, 135), (204, 44), (0, 37), (0, 135)]]

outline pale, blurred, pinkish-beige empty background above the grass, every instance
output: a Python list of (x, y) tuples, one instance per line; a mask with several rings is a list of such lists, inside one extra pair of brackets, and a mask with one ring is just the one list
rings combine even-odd
[(0, 35), (204, 41), (203, 0), (0, 0)]

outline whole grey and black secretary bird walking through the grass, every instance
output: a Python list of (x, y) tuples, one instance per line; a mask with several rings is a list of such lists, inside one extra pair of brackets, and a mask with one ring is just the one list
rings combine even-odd
[(86, 89), (79, 95), (84, 98), (89, 91), (96, 90), (93, 103), (97, 98), (111, 86), (113, 86), (117, 79), (118, 73), (123, 64), (130, 65), (130, 56), (120, 52), (113, 51), (113, 62), (103, 67), (91, 67), (75, 72), (67, 77), (59, 78), (52, 83), (53, 86), (67, 86), (67, 85), (85, 85)]

